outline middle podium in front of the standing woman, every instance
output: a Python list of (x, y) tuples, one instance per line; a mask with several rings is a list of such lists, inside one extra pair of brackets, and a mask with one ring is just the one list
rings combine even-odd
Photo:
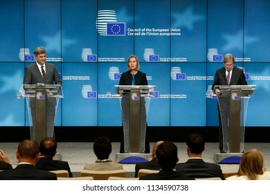
[(145, 153), (145, 132), (150, 94), (155, 86), (116, 85), (115, 89), (120, 97), (124, 132), (124, 153), (116, 153), (116, 161), (131, 157), (135, 157), (134, 161), (138, 158), (152, 159), (150, 153)]

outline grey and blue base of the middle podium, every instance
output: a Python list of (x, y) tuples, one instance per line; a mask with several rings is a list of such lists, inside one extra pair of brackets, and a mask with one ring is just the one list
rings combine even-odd
[(116, 162), (122, 164), (136, 164), (152, 160), (152, 154), (143, 153), (116, 153)]

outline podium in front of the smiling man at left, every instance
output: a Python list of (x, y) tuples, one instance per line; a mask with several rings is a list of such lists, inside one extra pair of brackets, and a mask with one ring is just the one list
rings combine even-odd
[(25, 98), (28, 108), (30, 139), (40, 143), (45, 137), (54, 137), (57, 105), (64, 98), (61, 85), (20, 85), (17, 98)]

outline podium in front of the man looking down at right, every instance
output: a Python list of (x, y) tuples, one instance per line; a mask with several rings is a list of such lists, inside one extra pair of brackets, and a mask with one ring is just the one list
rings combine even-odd
[[(223, 148), (226, 153), (217, 153), (214, 160), (219, 164), (239, 164), (244, 153), (244, 133), (249, 98), (255, 85), (217, 85), (219, 113), (222, 121)], [(214, 91), (215, 91), (214, 89)]]

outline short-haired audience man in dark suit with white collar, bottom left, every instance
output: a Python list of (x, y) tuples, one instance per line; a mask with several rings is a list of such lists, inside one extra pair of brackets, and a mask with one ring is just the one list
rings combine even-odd
[(36, 141), (21, 141), (16, 152), (18, 166), (12, 170), (1, 171), (0, 180), (57, 180), (55, 173), (35, 168), (39, 155), (39, 145)]

